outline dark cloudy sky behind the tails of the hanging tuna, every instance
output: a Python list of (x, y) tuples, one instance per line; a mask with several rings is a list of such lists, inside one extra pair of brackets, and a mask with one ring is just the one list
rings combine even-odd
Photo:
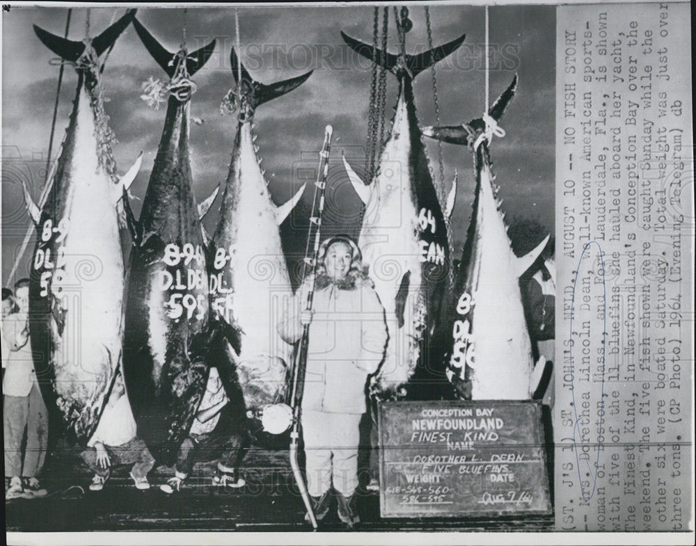
[[(74, 9), (70, 38), (84, 37), (86, 9)], [(54, 56), (33, 33), (32, 24), (63, 35), (68, 10), (58, 8), (15, 8), (3, 12), (2, 73), (2, 275), (8, 282), (17, 247), (29, 227), (24, 212), (19, 180), (24, 178), (38, 198), (43, 183), (48, 151), (58, 67), (49, 64)], [(101, 32), (112, 17), (125, 8), (93, 8), (90, 34)], [(361, 206), (347, 186), (340, 167), (340, 152), (353, 158), (354, 166), (364, 161), (367, 135), (367, 107), (370, 97), (369, 61), (358, 58), (343, 43), (340, 31), (372, 43), (373, 8), (360, 7), (261, 7), (239, 8), (242, 60), (249, 72), (263, 83), (287, 79), (314, 69), (314, 74), (292, 93), (260, 106), (256, 115), (257, 145), (269, 179), (271, 195), (281, 203), (311, 175), (317, 166), (324, 126), (333, 125), (334, 142), (329, 179), (327, 224), (329, 229), (356, 233)], [(439, 45), (466, 33), (464, 45), (452, 57), (438, 63), (437, 83), (441, 123), (454, 124), (479, 117), (484, 109), (484, 8), (478, 6), (432, 6), (432, 35)], [(390, 51), (397, 40), (390, 10)], [(413, 30), (406, 35), (409, 52), (427, 48), (424, 9), (411, 6)], [(182, 41), (184, 10), (141, 8), (139, 20), (171, 51)], [(223, 116), (219, 105), (232, 85), (229, 51), (235, 44), (233, 8), (189, 8), (187, 13), (189, 49), (218, 40), (216, 53), (193, 78), (198, 92), (193, 95), (191, 115), (203, 125), (191, 129), (191, 164), (194, 191), (198, 200), (226, 179), (236, 117)], [(507, 87), (514, 72), (519, 73), (519, 90), (501, 126), (505, 138), (491, 147), (493, 168), (500, 185), (500, 197), (507, 219), (536, 218), (553, 231), (555, 173), (555, 7), (500, 6), (490, 9), (491, 45), (496, 51), (491, 70), (491, 101)], [(132, 193), (142, 197), (164, 124), (164, 108), (150, 109), (141, 100), (141, 84), (148, 77), (166, 79), (141, 44), (132, 26), (116, 42), (104, 70), (106, 113), (118, 138), (114, 153), (119, 172), (125, 172), (142, 150), (143, 167)], [(61, 142), (74, 99), (77, 76), (65, 67), (54, 150)], [(396, 79), (387, 75), (386, 118), (390, 127), (391, 107), (396, 100)], [(432, 76), (423, 72), (415, 82), (416, 106), (422, 125), (435, 122)], [(429, 158), (439, 182), (438, 154), (427, 142)], [(459, 170), (457, 207), (453, 232), (455, 257), (461, 252), (473, 201), (474, 175), (470, 153), (463, 147), (443, 144), (445, 184), (450, 186), (454, 168)], [(357, 169), (356, 169), (357, 170)], [(308, 174), (309, 173), (309, 174)], [(306, 192), (303, 204), (310, 200)], [(218, 205), (205, 219), (212, 229)], [(134, 203), (136, 212), (140, 202)], [(297, 209), (300, 221), (306, 207)], [(286, 248), (294, 248), (291, 225), (285, 225)], [(19, 276), (28, 273), (33, 249), (29, 245)]]

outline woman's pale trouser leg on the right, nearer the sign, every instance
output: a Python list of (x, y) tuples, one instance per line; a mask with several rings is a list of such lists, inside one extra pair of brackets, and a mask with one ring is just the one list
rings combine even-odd
[(344, 497), (353, 495), (358, 487), (358, 444), (361, 415), (331, 415), (331, 451), (333, 452), (333, 487)]

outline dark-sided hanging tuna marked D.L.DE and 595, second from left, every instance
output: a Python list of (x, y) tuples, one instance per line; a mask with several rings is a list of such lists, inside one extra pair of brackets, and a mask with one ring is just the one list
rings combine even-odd
[(208, 280), (200, 218), (191, 186), (189, 109), (215, 40), (189, 53), (162, 47), (135, 19), (145, 47), (170, 81), (164, 132), (138, 221), (127, 207), (134, 239), (126, 296), (124, 369), (139, 435), (173, 463), (205, 392), (209, 368)]

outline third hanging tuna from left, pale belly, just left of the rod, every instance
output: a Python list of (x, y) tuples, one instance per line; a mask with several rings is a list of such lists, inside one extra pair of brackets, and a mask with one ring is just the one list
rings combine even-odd
[(219, 358), (236, 369), (246, 408), (258, 410), (285, 400), (292, 347), (276, 335), (276, 324), (292, 287), (279, 226), (304, 186), (280, 207), (271, 200), (254, 144), (254, 113), (260, 104), (301, 85), (312, 72), (264, 85), (251, 77), (234, 49), (230, 61), (237, 88), (221, 108), (237, 111), (237, 136), (210, 247), (210, 295), (212, 310), (242, 330), (242, 352), (226, 344)]

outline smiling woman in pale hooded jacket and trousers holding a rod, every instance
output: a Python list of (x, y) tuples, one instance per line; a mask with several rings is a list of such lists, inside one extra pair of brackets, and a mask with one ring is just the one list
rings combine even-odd
[(333, 482), (338, 516), (353, 527), (360, 521), (354, 495), (358, 424), (366, 409), (367, 376), (383, 358), (386, 319), (372, 281), (363, 273), (360, 250), (349, 236), (331, 237), (320, 246), (313, 310), (306, 311), (311, 283), (308, 278), (298, 289), (278, 331), (293, 343), (303, 325), (311, 325), (301, 406), (308, 490), (315, 517), (321, 520), (329, 511)]

